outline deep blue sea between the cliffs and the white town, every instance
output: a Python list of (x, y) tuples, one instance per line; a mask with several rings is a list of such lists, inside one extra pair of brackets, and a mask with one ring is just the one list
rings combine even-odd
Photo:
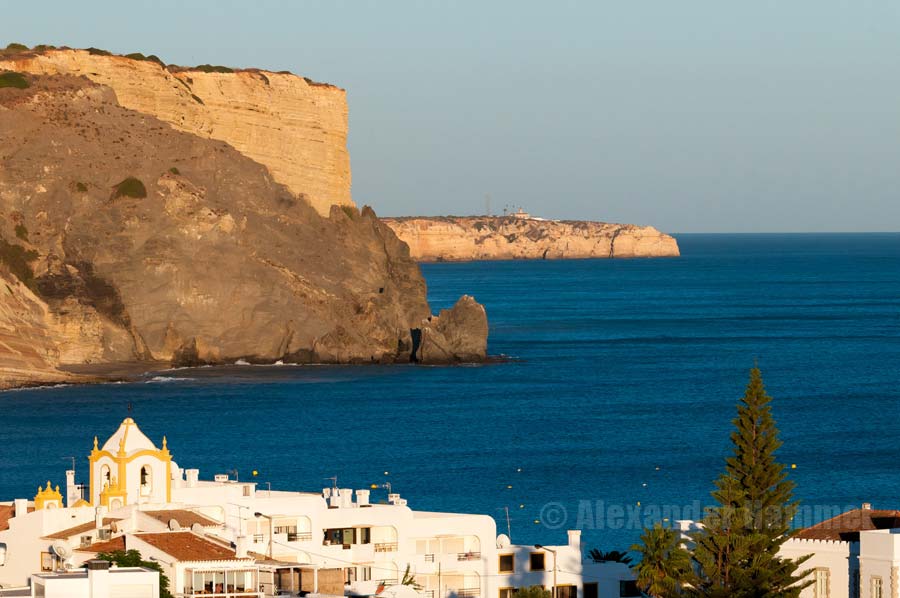
[(132, 416), (202, 477), (390, 482), (417, 509), (494, 516), (517, 543), (577, 526), (588, 546), (627, 549), (648, 520), (708, 502), (758, 362), (803, 522), (813, 507), (900, 508), (900, 235), (679, 242), (677, 259), (423, 266), (435, 310), (463, 293), (486, 306), (500, 363), (201, 368), (2, 393), (0, 498), (63, 484), (72, 456), (86, 481), (93, 436)]

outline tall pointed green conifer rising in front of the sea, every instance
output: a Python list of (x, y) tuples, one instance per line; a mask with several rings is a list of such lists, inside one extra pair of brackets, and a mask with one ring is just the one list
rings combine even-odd
[(691, 594), (704, 598), (796, 598), (811, 582), (796, 560), (778, 556), (797, 511), (794, 484), (775, 460), (781, 446), (771, 397), (759, 368), (738, 404), (731, 433), (734, 453), (712, 493), (718, 506), (692, 538), (696, 579)]

